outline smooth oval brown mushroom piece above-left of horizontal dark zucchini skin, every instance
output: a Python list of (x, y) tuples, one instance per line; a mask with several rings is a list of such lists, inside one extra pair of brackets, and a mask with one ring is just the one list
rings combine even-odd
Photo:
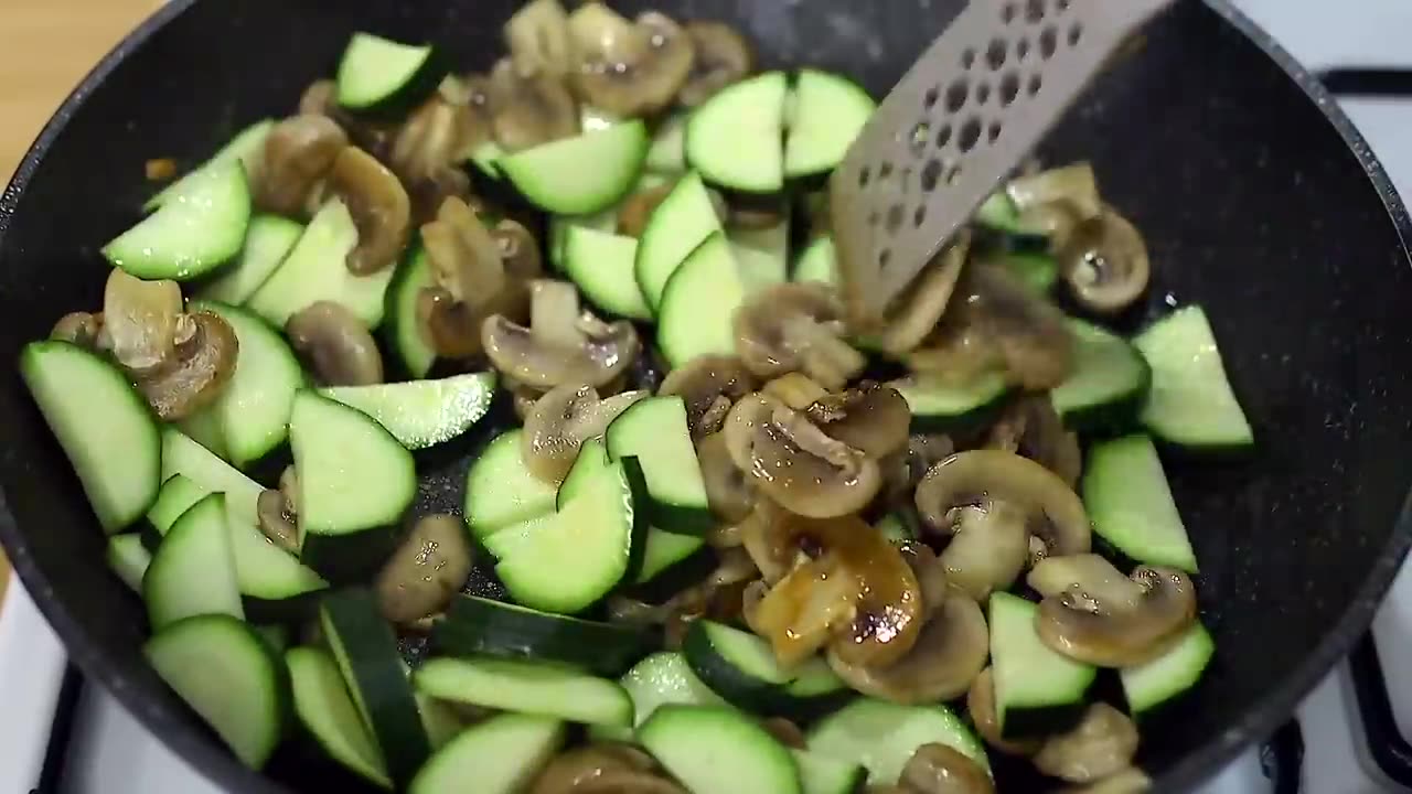
[(446, 513), (418, 519), (377, 575), (383, 616), (408, 624), (441, 612), (466, 583), (470, 565), (466, 521)]

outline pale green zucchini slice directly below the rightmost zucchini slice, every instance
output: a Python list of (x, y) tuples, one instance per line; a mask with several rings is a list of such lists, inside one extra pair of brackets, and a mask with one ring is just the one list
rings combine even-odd
[(1093, 531), (1128, 558), (1196, 574), (1196, 552), (1147, 435), (1094, 444), (1083, 470), (1083, 506)]

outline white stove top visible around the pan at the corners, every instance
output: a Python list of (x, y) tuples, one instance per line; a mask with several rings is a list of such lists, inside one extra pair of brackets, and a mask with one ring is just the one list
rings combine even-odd
[[(1406, 45), (1412, 1), (1234, 1), (1313, 69), (1412, 66)], [(1350, 99), (1341, 105), (1398, 191), (1412, 196), (1412, 144), (1406, 136), (1412, 130), (1412, 99)], [(11, 591), (0, 613), (0, 794), (25, 794), (41, 780), (47, 726), (54, 722), (66, 663), (25, 593), (18, 586)], [(1398, 576), (1374, 632), (1382, 667), (1412, 670), (1412, 565)], [(1388, 687), (1396, 723), (1412, 736), (1412, 677), (1391, 674)], [(1298, 716), (1305, 747), (1300, 791), (1404, 791), (1368, 757), (1347, 663), (1310, 694)], [(97, 687), (82, 687), (64, 767), (44, 777), (61, 794), (219, 794)], [(1271, 793), (1255, 749), (1202, 788), (1202, 794)]]

